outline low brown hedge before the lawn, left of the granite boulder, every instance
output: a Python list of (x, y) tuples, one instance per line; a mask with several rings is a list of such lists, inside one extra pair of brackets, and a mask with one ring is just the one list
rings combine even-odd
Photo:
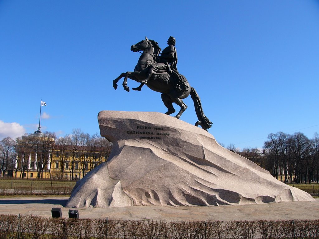
[(70, 187), (45, 187), (43, 190), (35, 190), (34, 187), (9, 187), (0, 186), (0, 195), (70, 195)]

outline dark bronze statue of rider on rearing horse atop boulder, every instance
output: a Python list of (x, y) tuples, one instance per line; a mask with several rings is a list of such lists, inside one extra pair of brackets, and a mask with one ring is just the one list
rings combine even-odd
[(196, 126), (200, 125), (207, 131), (212, 125), (212, 122), (204, 115), (202, 104), (197, 95), (197, 92), (191, 87), (185, 76), (179, 74), (177, 71), (177, 54), (175, 48), (175, 38), (170, 37), (167, 41), (168, 47), (163, 49), (154, 40), (145, 40), (138, 42), (131, 46), (131, 51), (140, 52), (141, 56), (138, 59), (137, 65), (133, 72), (122, 73), (113, 81), (113, 87), (117, 89), (117, 82), (124, 77), (123, 87), (125, 91), (130, 91), (127, 86), (127, 79), (141, 83), (135, 91), (141, 91), (142, 87), (146, 85), (153, 91), (162, 93), (161, 98), (168, 111), (165, 114), (172, 114), (175, 112), (173, 103), (181, 107), (175, 118), (179, 119), (182, 113), (187, 109), (182, 99), (189, 95), (194, 101), (195, 112), (198, 118)]

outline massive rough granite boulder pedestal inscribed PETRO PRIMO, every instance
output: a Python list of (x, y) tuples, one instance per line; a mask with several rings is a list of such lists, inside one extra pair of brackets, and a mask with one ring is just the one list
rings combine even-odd
[(157, 112), (101, 111), (108, 162), (80, 180), (67, 207), (222, 206), (312, 201), (200, 127)]

